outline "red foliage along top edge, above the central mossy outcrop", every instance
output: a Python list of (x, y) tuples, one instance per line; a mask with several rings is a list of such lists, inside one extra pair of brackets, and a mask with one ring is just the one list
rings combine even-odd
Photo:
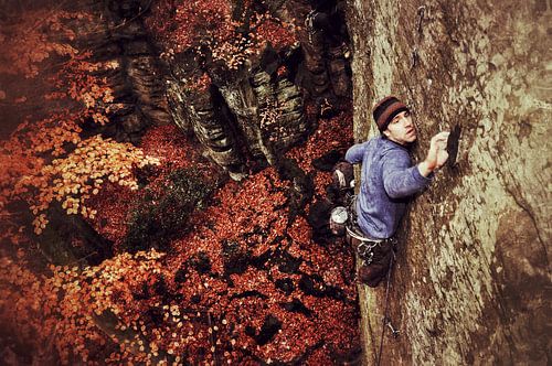
[(250, 1), (244, 1), (241, 14), (233, 14), (233, 7), (229, 0), (164, 0), (152, 7), (146, 23), (164, 44), (164, 55), (209, 52), (230, 69), (259, 54), (267, 43), (279, 51), (297, 41), (294, 24), (252, 11)]

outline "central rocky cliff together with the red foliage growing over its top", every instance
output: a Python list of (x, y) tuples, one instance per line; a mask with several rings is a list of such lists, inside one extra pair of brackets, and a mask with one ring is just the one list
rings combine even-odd
[(349, 101), (348, 35), (337, 0), (213, 4), (158, 1), (146, 23), (171, 71), (172, 119), (241, 180), (316, 128), (306, 109), (323, 115)]

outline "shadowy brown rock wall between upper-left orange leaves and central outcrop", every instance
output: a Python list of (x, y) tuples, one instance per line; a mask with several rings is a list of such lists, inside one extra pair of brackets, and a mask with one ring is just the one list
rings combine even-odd
[(142, 23), (146, 3), (79, 1), (75, 7), (96, 14), (102, 22), (89, 23), (89, 29), (81, 25), (77, 47), (93, 50), (95, 61), (117, 63), (115, 69), (96, 73), (107, 78), (114, 90), (113, 103), (118, 106), (109, 114), (112, 123), (103, 132), (119, 141), (135, 142), (148, 126), (169, 123), (163, 71)]

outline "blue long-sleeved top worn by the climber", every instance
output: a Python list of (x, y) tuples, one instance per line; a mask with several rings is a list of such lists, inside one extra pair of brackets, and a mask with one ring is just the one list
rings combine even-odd
[(412, 165), (408, 150), (382, 136), (352, 146), (346, 153), (352, 164), (362, 163), (357, 197), (358, 224), (372, 239), (395, 234), (408, 196), (432, 181)]

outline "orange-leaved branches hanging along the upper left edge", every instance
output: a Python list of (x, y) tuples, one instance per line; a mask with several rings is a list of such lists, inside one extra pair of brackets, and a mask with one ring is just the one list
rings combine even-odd
[[(46, 111), (26, 117), (0, 146), (0, 165), (4, 166), (0, 170), (0, 208), (9, 201), (25, 201), (35, 216), (36, 234), (47, 224), (46, 211), (54, 200), (62, 202), (67, 214), (94, 217), (94, 211), (86, 206), (91, 194), (107, 180), (135, 187), (131, 164), (142, 165), (148, 160), (128, 144), (100, 137), (81, 139), (85, 121), (105, 125), (119, 107), (114, 104), (107, 79), (97, 76), (117, 67), (117, 63), (95, 62), (91, 52), (71, 42), (77, 30), (94, 31), (99, 22), (93, 20), (91, 13), (44, 6), (21, 13), (19, 22), (2, 28), (9, 36), (0, 34), (7, 50), (0, 57), (9, 65), (0, 67), (0, 73), (34, 78), (20, 84), (29, 93), (39, 94), (38, 99), (31, 98), (30, 106)], [(28, 101), (26, 96), (18, 100)]]

